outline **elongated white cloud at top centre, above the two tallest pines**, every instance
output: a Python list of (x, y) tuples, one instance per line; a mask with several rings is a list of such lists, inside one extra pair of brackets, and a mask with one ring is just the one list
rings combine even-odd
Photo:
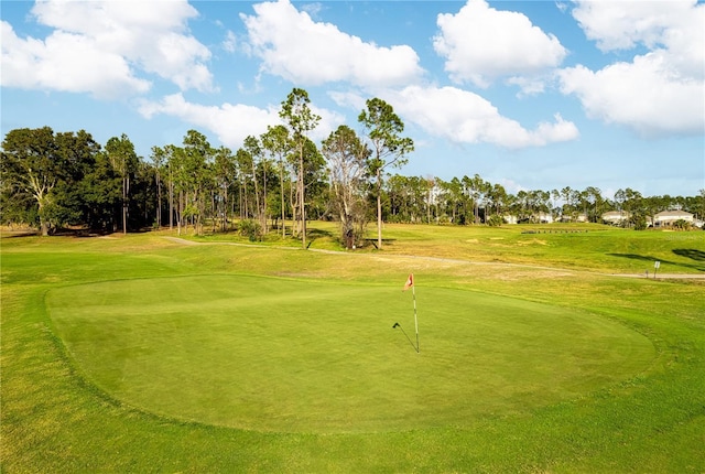
[(400, 85), (422, 74), (408, 45), (364, 42), (330, 23), (314, 22), (288, 0), (259, 3), (254, 15), (241, 14), (252, 54), (262, 71), (302, 85), (349, 82), (358, 86)]

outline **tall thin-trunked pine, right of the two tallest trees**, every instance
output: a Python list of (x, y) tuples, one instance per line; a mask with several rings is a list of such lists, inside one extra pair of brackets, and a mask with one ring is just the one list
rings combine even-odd
[(414, 150), (411, 138), (401, 137), (404, 122), (394, 114), (391, 105), (379, 98), (367, 100), (367, 109), (358, 117), (372, 151), (368, 160), (369, 170), (376, 182), (377, 194), (377, 248), (382, 248), (382, 173), (388, 168), (399, 168), (408, 162), (405, 158)]

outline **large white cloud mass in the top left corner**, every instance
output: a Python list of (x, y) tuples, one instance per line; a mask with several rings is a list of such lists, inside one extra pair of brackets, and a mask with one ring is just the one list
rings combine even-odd
[(144, 93), (155, 74), (182, 90), (212, 90), (210, 52), (188, 34), (197, 15), (185, 1), (40, 1), (32, 14), (54, 30), (19, 37), (2, 25), (2, 85), (87, 91), (97, 97)]

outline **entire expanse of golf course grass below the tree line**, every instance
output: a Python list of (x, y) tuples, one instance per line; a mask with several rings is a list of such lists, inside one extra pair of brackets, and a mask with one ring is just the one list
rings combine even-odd
[(703, 472), (705, 284), (612, 273), (705, 233), (556, 228), (3, 237), (0, 467)]

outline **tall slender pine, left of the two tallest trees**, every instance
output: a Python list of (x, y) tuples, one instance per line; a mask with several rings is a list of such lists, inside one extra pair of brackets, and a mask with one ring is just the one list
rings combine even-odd
[(297, 180), (297, 207), (300, 209), (301, 218), (301, 236), (303, 248), (306, 248), (306, 185), (305, 169), (304, 169), (304, 155), (305, 147), (308, 141), (307, 133), (316, 128), (321, 121), (321, 117), (311, 110), (308, 93), (304, 89), (294, 88), (286, 97), (286, 100), (282, 101), (282, 108), (279, 116), (286, 123), (292, 137), (295, 152), (299, 157), (299, 164), (296, 168)]

